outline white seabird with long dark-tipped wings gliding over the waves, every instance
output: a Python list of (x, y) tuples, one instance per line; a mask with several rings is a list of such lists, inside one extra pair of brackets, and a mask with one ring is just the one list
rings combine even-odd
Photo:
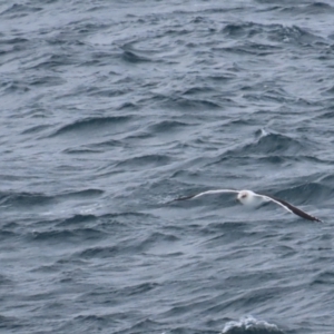
[(279, 199), (279, 198), (276, 198), (276, 197), (273, 197), (273, 196), (269, 196), (269, 195), (261, 195), (261, 194), (256, 194), (252, 190), (233, 190), (233, 189), (217, 189), (217, 190), (207, 190), (207, 191), (204, 191), (204, 193), (199, 193), (199, 194), (196, 194), (196, 195), (190, 195), (190, 196), (184, 196), (184, 197), (178, 197), (171, 202), (176, 202), (176, 200), (187, 200), (187, 199), (194, 199), (194, 198), (197, 198), (197, 197), (202, 197), (204, 195), (209, 195), (209, 194), (237, 194), (237, 199), (246, 205), (246, 206), (258, 206), (263, 203), (266, 203), (266, 202), (273, 202), (277, 205), (279, 205), (281, 207), (283, 207), (284, 209), (286, 209), (287, 212), (289, 212), (291, 214), (295, 214), (304, 219), (308, 219), (308, 220), (312, 220), (312, 222), (322, 222), (321, 219), (303, 212), (302, 209), (293, 206), (292, 204), (283, 200), (283, 199)]

